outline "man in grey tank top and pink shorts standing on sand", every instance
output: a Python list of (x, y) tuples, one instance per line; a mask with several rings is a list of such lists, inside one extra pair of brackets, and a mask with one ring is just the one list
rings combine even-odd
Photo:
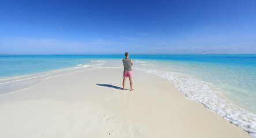
[(125, 90), (125, 81), (127, 76), (129, 77), (130, 80), (130, 86), (131, 86), (131, 91), (133, 91), (133, 71), (131, 71), (131, 66), (133, 66), (133, 60), (129, 59), (129, 53), (125, 53), (125, 59), (123, 59), (123, 90)]

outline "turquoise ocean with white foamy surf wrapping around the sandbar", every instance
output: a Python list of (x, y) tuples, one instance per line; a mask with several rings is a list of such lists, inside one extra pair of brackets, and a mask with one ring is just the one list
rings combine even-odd
[[(101, 67), (122, 70), (122, 58), (124, 55), (0, 55), (0, 96), (36, 86), (52, 76)], [(130, 54), (130, 58), (133, 70), (172, 81), (186, 99), (203, 104), (256, 137), (256, 54)]]

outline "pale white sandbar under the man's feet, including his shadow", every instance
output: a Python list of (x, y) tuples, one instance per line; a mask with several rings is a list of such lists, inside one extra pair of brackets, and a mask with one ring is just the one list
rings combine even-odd
[(250, 137), (155, 74), (134, 70), (123, 91), (122, 72), (88, 68), (0, 96), (0, 136)]

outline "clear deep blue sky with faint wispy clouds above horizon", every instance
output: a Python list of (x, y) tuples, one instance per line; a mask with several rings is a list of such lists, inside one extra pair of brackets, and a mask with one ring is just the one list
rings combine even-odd
[(0, 2), (0, 53), (256, 53), (256, 1)]

